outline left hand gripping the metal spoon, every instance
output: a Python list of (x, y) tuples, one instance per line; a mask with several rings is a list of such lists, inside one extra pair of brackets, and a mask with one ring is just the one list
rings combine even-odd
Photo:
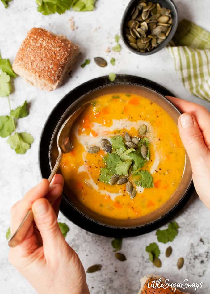
[(32, 224), (24, 241), (10, 249), (9, 261), (38, 293), (89, 294), (82, 263), (57, 223), (63, 183), (60, 174), (50, 185), (43, 179), (11, 208), (11, 234), (31, 208), (39, 232)]

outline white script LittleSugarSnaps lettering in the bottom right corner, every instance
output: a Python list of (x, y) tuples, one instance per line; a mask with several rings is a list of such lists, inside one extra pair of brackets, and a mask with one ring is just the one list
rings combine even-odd
[(171, 288), (170, 291), (172, 293), (174, 293), (177, 288), (180, 289), (187, 289), (187, 288), (195, 288), (195, 291), (197, 289), (202, 288), (202, 284), (203, 283), (188, 283), (188, 279), (185, 279), (183, 281), (183, 283), (170, 283), (169, 279), (166, 279), (165, 281), (163, 281), (161, 278), (159, 280), (154, 280), (154, 281), (148, 281), (148, 288), (153, 288), (153, 289), (159, 289), (159, 288), (163, 288), (163, 289), (167, 289), (167, 288)]

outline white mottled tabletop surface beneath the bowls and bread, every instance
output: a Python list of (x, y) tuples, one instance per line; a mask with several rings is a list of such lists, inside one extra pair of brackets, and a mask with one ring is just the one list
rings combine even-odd
[[(79, 44), (82, 55), (72, 78), (58, 90), (45, 93), (30, 86), (22, 78), (14, 81), (15, 92), (11, 94), (12, 107), (15, 108), (25, 99), (30, 102), (30, 115), (19, 120), (18, 130), (28, 131), (35, 141), (31, 149), (23, 156), (15, 154), (6, 143), (0, 140), (0, 284), (1, 293), (34, 293), (35, 291), (7, 260), (8, 247), (5, 239), (6, 229), (10, 225), (10, 208), (24, 193), (36, 185), (40, 179), (38, 164), (38, 145), (45, 120), (59, 100), (75, 86), (110, 72), (127, 73), (142, 76), (166, 86), (174, 94), (186, 100), (203, 104), (210, 109), (210, 104), (191, 96), (179, 81), (172, 59), (166, 49), (154, 55), (143, 57), (128, 52), (123, 47), (120, 53), (106, 53), (108, 46), (114, 46), (114, 36), (119, 33), (119, 24), (128, 0), (98, 0), (93, 12), (75, 13), (68, 11), (64, 15), (44, 16), (36, 11), (36, 1), (14, 0), (6, 10), (0, 3), (0, 50), (2, 57), (14, 60), (19, 45), (31, 27), (43, 27), (56, 34), (64, 34)], [(186, 17), (210, 31), (207, 21), (210, 14), (208, 0), (202, 4), (196, 0), (175, 0), (180, 19)], [(69, 18), (73, 16), (78, 29), (71, 31)], [(97, 31), (95, 28), (100, 27)], [(121, 41), (120, 41), (121, 43)], [(99, 68), (93, 57), (101, 56), (109, 61), (116, 59), (116, 66)], [(91, 58), (91, 64), (82, 69), (79, 65), (85, 58)], [(7, 100), (0, 99), (0, 115), (9, 111)], [(189, 279), (190, 283), (203, 282), (203, 288), (196, 293), (209, 292), (210, 276), (210, 213), (195, 195), (189, 204), (176, 217), (180, 225), (179, 235), (172, 242), (173, 254), (166, 260), (164, 252), (168, 244), (159, 243), (162, 268), (156, 269), (148, 261), (145, 246), (156, 241), (155, 232), (144, 236), (123, 240), (121, 252), (127, 261), (121, 263), (114, 258), (111, 238), (100, 237), (86, 232), (59, 215), (65, 221), (70, 232), (66, 240), (77, 251), (85, 267), (101, 263), (101, 271), (87, 275), (90, 292), (107, 294), (132, 294), (139, 289), (139, 279), (148, 273), (165, 275), (174, 282)], [(204, 244), (200, 242), (200, 237)], [(178, 271), (176, 262), (180, 256), (185, 258), (183, 269)], [(117, 272), (115, 272), (117, 271)], [(64, 273), (65, 275), (65, 273)], [(189, 289), (195, 293), (195, 290)], [(70, 293), (70, 291), (69, 291)]]

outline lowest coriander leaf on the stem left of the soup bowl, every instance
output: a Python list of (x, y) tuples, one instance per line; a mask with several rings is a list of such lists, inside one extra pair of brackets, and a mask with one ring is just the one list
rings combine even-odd
[(34, 139), (31, 134), (27, 132), (17, 133), (11, 135), (7, 143), (10, 144), (11, 148), (15, 150), (17, 154), (24, 154), (31, 147)]

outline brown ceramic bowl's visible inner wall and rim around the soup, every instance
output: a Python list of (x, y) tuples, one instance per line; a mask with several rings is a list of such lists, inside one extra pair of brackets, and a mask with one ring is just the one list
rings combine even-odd
[[(166, 97), (156, 92), (155, 90), (152, 90), (148, 87), (141, 86), (138, 84), (132, 84), (132, 83), (115, 83), (115, 84), (101, 86), (99, 88), (91, 90), (88, 93), (82, 95), (72, 104), (69, 103), (69, 107), (61, 115), (61, 118), (52, 134), (50, 147), (49, 147), (49, 162), (50, 162), (51, 170), (55, 164), (55, 160), (58, 154), (57, 146), (56, 146), (57, 132), (59, 128), (61, 127), (62, 123), (65, 121), (65, 119), (87, 101), (95, 99), (100, 95), (109, 94), (109, 93), (117, 93), (117, 92), (118, 93), (119, 92), (134, 93), (134, 94), (147, 97), (151, 101), (159, 104), (165, 111), (167, 111), (167, 113), (173, 118), (175, 123), (177, 123), (178, 121), (180, 111), (168, 99), (166, 99)], [(96, 212), (91, 211), (74, 196), (73, 188), (72, 188), (72, 191), (69, 191), (66, 185), (64, 185), (63, 193), (67, 202), (70, 203), (72, 207), (75, 210), (77, 210), (77, 212), (82, 214), (85, 218), (92, 220), (93, 222), (97, 222), (98, 224), (101, 224), (101, 225), (108, 225), (112, 228), (117, 228), (117, 229), (138, 228), (141, 226), (145, 226), (147, 224), (154, 223), (157, 220), (160, 220), (162, 217), (168, 214), (171, 210), (173, 210), (174, 207), (176, 207), (179, 204), (179, 202), (183, 199), (184, 195), (187, 193), (191, 185), (191, 182), (192, 182), (191, 166), (190, 166), (189, 158), (186, 154), (185, 170), (183, 173), (181, 183), (178, 189), (170, 197), (168, 202), (162, 205), (161, 208), (157, 209), (156, 211), (146, 216), (136, 218), (136, 219), (131, 219), (131, 220), (112, 219), (105, 216), (101, 216), (97, 214)]]

